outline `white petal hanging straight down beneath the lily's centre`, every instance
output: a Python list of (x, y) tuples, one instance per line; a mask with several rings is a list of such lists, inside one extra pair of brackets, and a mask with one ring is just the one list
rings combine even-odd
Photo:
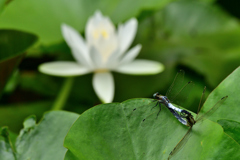
[(95, 73), (93, 76), (93, 88), (102, 102), (112, 102), (114, 96), (114, 80), (110, 72)]

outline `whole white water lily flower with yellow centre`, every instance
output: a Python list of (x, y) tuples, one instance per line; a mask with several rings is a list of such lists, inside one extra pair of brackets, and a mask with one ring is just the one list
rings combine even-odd
[(49, 62), (40, 65), (42, 73), (55, 76), (78, 76), (94, 72), (93, 87), (104, 102), (112, 102), (114, 80), (110, 71), (144, 75), (157, 74), (164, 66), (156, 61), (134, 60), (141, 45), (128, 50), (137, 31), (137, 20), (132, 18), (115, 30), (108, 17), (96, 11), (85, 30), (86, 40), (72, 27), (63, 24), (62, 34), (71, 48), (76, 62)]

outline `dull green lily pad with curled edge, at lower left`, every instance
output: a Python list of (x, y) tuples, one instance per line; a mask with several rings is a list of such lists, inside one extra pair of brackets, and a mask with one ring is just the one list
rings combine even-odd
[(35, 124), (34, 116), (28, 117), (16, 141), (17, 159), (63, 159), (66, 152), (64, 137), (78, 116), (65, 111), (52, 111), (46, 113), (39, 124)]

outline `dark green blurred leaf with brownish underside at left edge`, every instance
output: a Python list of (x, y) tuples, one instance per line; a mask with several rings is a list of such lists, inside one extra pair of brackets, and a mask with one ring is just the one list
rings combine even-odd
[(0, 30), (0, 92), (13, 70), (25, 56), (22, 52), (36, 39), (36, 36), (29, 33)]

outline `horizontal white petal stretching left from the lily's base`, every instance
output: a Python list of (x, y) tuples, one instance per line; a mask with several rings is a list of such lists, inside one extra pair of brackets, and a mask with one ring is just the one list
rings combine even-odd
[(76, 62), (64, 61), (43, 63), (39, 66), (38, 70), (45, 74), (61, 77), (78, 76), (91, 72), (89, 69)]

